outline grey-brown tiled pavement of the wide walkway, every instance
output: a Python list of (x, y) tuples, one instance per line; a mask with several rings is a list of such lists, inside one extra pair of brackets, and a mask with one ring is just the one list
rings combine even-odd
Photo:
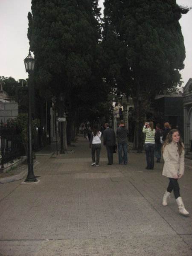
[[(130, 151), (128, 165), (90, 166), (81, 135), (75, 153), (39, 154), (39, 183), (0, 184), (0, 256), (191, 256), (191, 215), (178, 214), (174, 196), (161, 205), (168, 180), (163, 161), (145, 170), (145, 154)], [(55, 150), (55, 149), (54, 149)], [(192, 161), (180, 192), (192, 214)]]

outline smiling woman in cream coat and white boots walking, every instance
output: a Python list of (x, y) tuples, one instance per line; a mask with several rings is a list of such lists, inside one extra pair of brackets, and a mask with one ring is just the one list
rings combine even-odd
[(162, 204), (167, 206), (167, 198), (173, 190), (180, 214), (189, 215), (180, 196), (178, 183), (178, 179), (184, 174), (184, 144), (177, 129), (172, 129), (167, 134), (166, 141), (163, 143), (162, 153), (164, 159), (162, 175), (169, 178), (169, 186), (163, 196)]

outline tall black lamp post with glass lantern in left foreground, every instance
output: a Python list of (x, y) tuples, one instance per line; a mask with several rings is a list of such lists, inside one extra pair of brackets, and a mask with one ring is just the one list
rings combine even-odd
[(24, 59), (25, 69), (29, 75), (28, 82), (28, 93), (29, 93), (29, 109), (28, 109), (28, 175), (25, 182), (37, 182), (33, 173), (33, 157), (32, 157), (32, 122), (31, 122), (31, 85), (30, 85), (30, 75), (34, 70), (35, 59), (32, 57), (29, 50), (29, 55)]

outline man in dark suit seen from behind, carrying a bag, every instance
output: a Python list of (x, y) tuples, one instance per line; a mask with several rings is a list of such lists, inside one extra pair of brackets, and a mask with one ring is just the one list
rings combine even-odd
[(105, 130), (103, 131), (103, 145), (106, 147), (108, 153), (108, 164), (113, 164), (113, 146), (116, 142), (115, 132), (105, 123)]

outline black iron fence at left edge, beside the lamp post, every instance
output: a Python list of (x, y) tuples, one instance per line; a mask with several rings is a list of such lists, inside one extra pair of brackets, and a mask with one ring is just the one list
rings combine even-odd
[(15, 127), (0, 125), (0, 156), (1, 168), (4, 164), (25, 154), (24, 147), (19, 140), (19, 134)]

